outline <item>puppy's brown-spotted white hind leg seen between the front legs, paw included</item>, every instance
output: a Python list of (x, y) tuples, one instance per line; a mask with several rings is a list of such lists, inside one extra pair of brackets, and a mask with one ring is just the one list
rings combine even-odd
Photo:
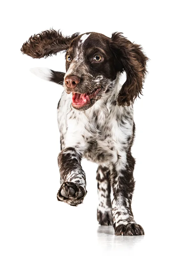
[(96, 179), (98, 181), (99, 197), (99, 204), (97, 209), (98, 222), (100, 225), (113, 225), (109, 169), (99, 165)]

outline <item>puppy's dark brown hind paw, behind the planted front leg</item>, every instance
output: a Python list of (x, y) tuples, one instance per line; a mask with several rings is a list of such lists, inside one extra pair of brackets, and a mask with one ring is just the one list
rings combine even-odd
[(109, 209), (109, 210), (98, 209), (97, 219), (100, 225), (104, 225), (104, 226), (113, 225), (112, 209)]

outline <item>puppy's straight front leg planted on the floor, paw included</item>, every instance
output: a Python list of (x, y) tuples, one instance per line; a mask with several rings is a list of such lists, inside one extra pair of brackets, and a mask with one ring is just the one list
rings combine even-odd
[(113, 227), (115, 235), (144, 235), (143, 228), (138, 225), (131, 210), (131, 200), (135, 181), (133, 178), (135, 160), (131, 153), (120, 152), (118, 160), (110, 167), (110, 180), (113, 188)]

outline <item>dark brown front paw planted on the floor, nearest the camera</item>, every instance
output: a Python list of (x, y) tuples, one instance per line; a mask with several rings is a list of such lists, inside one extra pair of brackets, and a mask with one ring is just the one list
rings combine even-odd
[(142, 236), (145, 234), (144, 229), (137, 223), (120, 224), (114, 227), (116, 236)]

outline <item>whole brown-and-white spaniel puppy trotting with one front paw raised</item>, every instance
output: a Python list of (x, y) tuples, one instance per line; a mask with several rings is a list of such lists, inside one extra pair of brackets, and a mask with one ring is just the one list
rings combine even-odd
[[(119, 32), (111, 38), (95, 32), (63, 36), (50, 29), (31, 36), (21, 48), (32, 58), (62, 51), (66, 52), (66, 73), (33, 70), (64, 86), (58, 103), (61, 152), (57, 198), (73, 206), (83, 202), (87, 191), (81, 160), (86, 158), (98, 164), (99, 224), (113, 225), (115, 235), (144, 235), (131, 210), (135, 186), (131, 147), (133, 103), (142, 94), (148, 58), (140, 45)], [(126, 81), (121, 85), (123, 72)]]

